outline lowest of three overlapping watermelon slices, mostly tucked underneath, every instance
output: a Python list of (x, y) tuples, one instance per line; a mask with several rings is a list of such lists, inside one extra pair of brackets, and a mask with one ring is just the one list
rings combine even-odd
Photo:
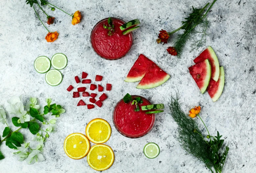
[(207, 88), (207, 91), (212, 98), (212, 100), (215, 102), (220, 97), (225, 83), (225, 74), (223, 67), (219, 67), (219, 79), (217, 82), (215, 82), (213, 79), (210, 80), (210, 84)]

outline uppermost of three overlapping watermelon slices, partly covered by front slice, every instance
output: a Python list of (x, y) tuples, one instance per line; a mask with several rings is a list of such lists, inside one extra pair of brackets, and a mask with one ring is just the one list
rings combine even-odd
[(196, 57), (194, 59), (194, 63), (197, 64), (206, 59), (208, 59), (211, 64), (211, 68), (212, 68), (211, 77), (213, 80), (217, 82), (219, 78), (219, 61), (211, 46), (207, 47), (207, 49), (205, 49), (198, 57)]

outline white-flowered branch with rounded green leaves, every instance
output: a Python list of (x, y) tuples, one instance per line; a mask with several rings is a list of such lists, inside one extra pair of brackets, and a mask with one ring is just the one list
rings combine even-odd
[[(56, 105), (56, 103), (51, 104), (52, 99), (47, 98), (46, 103), (47, 105), (44, 106), (43, 113), (40, 113), (38, 110), (40, 108), (37, 105), (37, 98), (30, 98), (28, 104), (26, 105), (27, 111), (24, 110), (23, 103), (21, 102), (21, 97), (13, 96), (8, 103), (10, 104), (6, 110), (10, 114), (15, 114), (16, 116), (12, 117), (12, 123), (15, 127), (19, 127), (17, 130), (13, 131), (8, 126), (6, 121), (6, 112), (5, 110), (0, 107), (0, 121), (3, 124), (6, 124), (3, 131), (4, 139), (1, 140), (0, 137), (0, 145), (2, 142), (5, 141), (5, 144), (11, 148), (18, 150), (17, 152), (13, 153), (19, 157), (20, 161), (27, 160), (28, 164), (33, 164), (36, 161), (43, 161), (44, 158), (40, 154), (43, 149), (44, 143), (46, 142), (46, 138), (49, 137), (50, 132), (54, 132), (56, 128), (56, 117), (59, 117), (60, 114), (64, 113), (65, 110), (62, 108), (61, 105)], [(54, 115), (55, 118), (47, 121), (45, 115), (51, 113)], [(32, 120), (30, 120), (32, 117)], [(42, 125), (49, 125), (45, 130), (40, 127), (40, 123)], [(37, 135), (34, 140), (38, 141), (39, 145), (37, 148), (33, 149), (29, 146), (29, 143), (26, 143), (23, 138), (23, 134), (19, 132), (20, 129), (29, 129), (30, 133), (33, 135)], [(23, 145), (24, 144), (24, 145)], [(31, 154), (31, 157), (29, 156)], [(32, 157), (33, 156), (33, 157)], [(0, 151), (0, 160), (4, 159), (5, 157)], [(27, 159), (28, 158), (28, 159)]]

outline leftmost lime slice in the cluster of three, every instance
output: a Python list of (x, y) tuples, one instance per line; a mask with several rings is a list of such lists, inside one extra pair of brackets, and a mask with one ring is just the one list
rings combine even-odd
[(38, 57), (34, 62), (38, 73), (46, 73), (51, 68), (51, 61), (45, 56)]

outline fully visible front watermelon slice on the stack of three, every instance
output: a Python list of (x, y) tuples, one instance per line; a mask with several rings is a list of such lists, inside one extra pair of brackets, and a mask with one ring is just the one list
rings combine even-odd
[(189, 67), (189, 73), (203, 94), (211, 79), (211, 64), (208, 59)]

